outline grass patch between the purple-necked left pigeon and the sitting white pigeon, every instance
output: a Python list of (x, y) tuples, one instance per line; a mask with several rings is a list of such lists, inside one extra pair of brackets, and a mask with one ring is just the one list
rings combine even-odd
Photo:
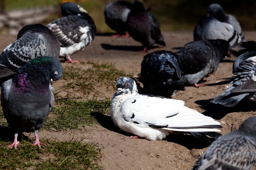
[(55, 99), (55, 105), (43, 128), (46, 130), (59, 131), (80, 129), (86, 125), (97, 124), (97, 119), (95, 119), (91, 113), (107, 113), (109, 107), (109, 99), (102, 101), (97, 101), (97, 99), (77, 101), (69, 99), (68, 97), (58, 97)]

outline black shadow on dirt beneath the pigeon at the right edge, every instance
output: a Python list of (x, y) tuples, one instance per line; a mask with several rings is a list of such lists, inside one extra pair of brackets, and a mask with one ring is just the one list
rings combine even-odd
[(195, 103), (200, 105), (199, 107), (205, 110), (202, 114), (210, 116), (213, 119), (217, 120), (222, 119), (228, 113), (250, 112), (252, 110), (256, 110), (255, 103), (247, 99), (241, 100), (236, 106), (233, 107), (226, 107), (220, 104), (213, 104), (210, 102), (211, 100), (212, 99), (197, 100), (195, 101)]

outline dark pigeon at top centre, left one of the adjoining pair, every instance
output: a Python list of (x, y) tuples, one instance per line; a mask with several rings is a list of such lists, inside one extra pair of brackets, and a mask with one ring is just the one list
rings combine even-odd
[(115, 2), (110, 2), (106, 5), (104, 9), (104, 16), (106, 24), (112, 29), (117, 31), (117, 35), (114, 37), (119, 37), (120, 35), (124, 35), (124, 37), (128, 37), (129, 34), (126, 30), (126, 20), (128, 17), (128, 13), (131, 9), (131, 2), (125, 0), (118, 0)]

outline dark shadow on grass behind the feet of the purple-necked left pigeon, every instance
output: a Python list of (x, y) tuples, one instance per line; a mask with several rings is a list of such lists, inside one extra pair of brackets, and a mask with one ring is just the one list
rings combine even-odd
[[(13, 141), (14, 140), (14, 132), (6, 126), (0, 126), (0, 140), (1, 141)], [(18, 134), (18, 141), (31, 141), (27, 136), (25, 136), (23, 133)], [(31, 141), (32, 142), (32, 141)]]

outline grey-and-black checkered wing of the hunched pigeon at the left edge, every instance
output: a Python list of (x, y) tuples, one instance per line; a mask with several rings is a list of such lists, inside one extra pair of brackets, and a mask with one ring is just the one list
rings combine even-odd
[(31, 59), (44, 55), (46, 50), (46, 44), (39, 33), (24, 35), (3, 50), (0, 66), (16, 71)]

